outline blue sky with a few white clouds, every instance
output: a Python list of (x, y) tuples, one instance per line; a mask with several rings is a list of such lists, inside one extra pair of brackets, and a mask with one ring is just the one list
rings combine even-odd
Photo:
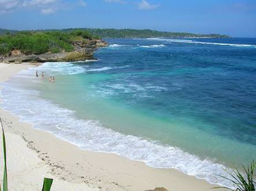
[(0, 0), (0, 28), (132, 28), (256, 37), (256, 0)]

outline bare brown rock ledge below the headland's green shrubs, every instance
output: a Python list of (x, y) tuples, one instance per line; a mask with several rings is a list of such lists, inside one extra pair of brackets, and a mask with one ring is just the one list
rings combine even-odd
[(102, 40), (87, 40), (87, 41), (73, 41), (73, 52), (60, 52), (40, 55), (25, 55), (18, 49), (14, 49), (10, 52), (9, 56), (0, 58), (0, 62), (3, 63), (21, 63), (21, 62), (76, 62), (83, 60), (93, 60), (93, 53), (95, 49), (100, 47), (106, 47), (107, 43)]

